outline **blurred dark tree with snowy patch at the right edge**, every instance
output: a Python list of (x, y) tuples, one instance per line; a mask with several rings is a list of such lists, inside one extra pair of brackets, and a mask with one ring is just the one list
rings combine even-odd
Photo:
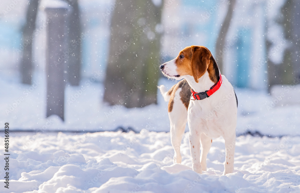
[[(277, 84), (297, 84), (300, 76), (299, 65), (299, 11), (300, 7), (296, 6), (298, 2), (286, 0), (281, 8), (278, 18), (275, 20), (283, 28), (284, 38), (278, 45), (274, 45), (273, 41), (266, 40), (267, 53), (272, 53), (272, 46), (278, 47), (277, 52), (283, 49), (283, 61), (275, 64), (272, 60), (268, 60), (268, 91), (272, 85)], [(278, 42), (277, 42), (278, 43)], [(287, 46), (286, 44), (289, 44)], [(273, 48), (274, 50), (274, 48)], [(276, 53), (275, 53), (276, 54)], [(295, 81), (296, 80), (296, 81)]]

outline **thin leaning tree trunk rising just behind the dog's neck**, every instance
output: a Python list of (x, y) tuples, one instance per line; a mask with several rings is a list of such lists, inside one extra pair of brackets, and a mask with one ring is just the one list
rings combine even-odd
[(230, 26), (230, 22), (232, 19), (232, 13), (235, 7), (236, 0), (229, 0), (228, 4), (228, 10), (226, 13), (226, 16), (224, 18), (223, 24), (221, 26), (219, 35), (217, 37), (217, 42), (216, 42), (216, 62), (218, 64), (218, 67), (221, 71), (223, 72), (223, 56), (224, 56), (224, 46), (225, 46), (225, 40), (226, 40), (226, 35)]

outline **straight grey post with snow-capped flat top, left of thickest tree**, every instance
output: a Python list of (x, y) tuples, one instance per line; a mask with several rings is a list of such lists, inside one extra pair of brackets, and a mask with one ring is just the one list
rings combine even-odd
[(46, 117), (57, 114), (64, 120), (64, 60), (67, 51), (67, 7), (46, 7), (49, 25), (47, 27)]

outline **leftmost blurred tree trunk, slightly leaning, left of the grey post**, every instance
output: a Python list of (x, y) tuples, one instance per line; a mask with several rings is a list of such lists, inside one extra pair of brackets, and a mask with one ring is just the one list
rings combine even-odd
[(32, 83), (32, 40), (33, 31), (35, 30), (35, 21), (38, 13), (38, 5), (40, 0), (29, 1), (29, 6), (26, 13), (26, 24), (23, 28), (23, 58), (20, 64), (21, 81), (23, 84)]

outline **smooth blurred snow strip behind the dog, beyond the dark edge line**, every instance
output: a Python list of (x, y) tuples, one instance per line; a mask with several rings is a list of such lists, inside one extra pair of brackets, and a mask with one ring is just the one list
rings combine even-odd
[[(0, 124), (7, 121), (13, 129), (36, 131), (114, 131), (120, 126), (131, 127), (136, 132), (142, 129), (170, 131), (167, 102), (161, 94), (158, 93), (158, 105), (129, 109), (109, 106), (103, 102), (104, 86), (95, 81), (95, 76), (83, 79), (78, 87), (66, 87), (65, 122), (56, 115), (46, 118), (46, 82), (42, 77), (43, 74), (35, 78), (31, 86), (0, 79), (0, 87), (6, 91), (1, 96)], [(169, 89), (175, 83), (162, 78), (158, 85)], [(299, 86), (274, 87), (270, 96), (265, 91), (251, 89), (235, 89), (235, 93), (238, 97), (237, 135), (248, 131), (271, 136), (300, 135), (297, 129), (300, 125)], [(284, 97), (280, 97), (282, 94)], [(187, 126), (185, 131), (188, 131)]]

